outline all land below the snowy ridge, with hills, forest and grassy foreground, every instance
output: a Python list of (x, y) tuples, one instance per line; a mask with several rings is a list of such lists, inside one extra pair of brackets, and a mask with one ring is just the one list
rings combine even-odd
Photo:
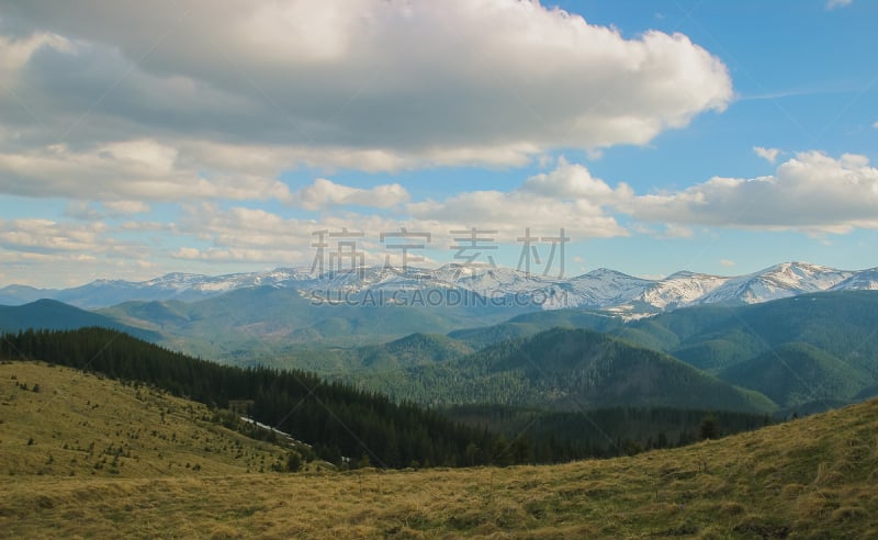
[(1, 306), (0, 529), (878, 531), (876, 322), (871, 290), (638, 317), (327, 305), (264, 285)]

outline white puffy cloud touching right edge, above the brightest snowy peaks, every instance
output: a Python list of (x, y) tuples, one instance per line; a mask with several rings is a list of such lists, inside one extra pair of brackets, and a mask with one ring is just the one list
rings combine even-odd
[(653, 223), (848, 233), (878, 227), (878, 169), (868, 158), (804, 151), (775, 175), (716, 177), (683, 191), (640, 195), (617, 206)]

